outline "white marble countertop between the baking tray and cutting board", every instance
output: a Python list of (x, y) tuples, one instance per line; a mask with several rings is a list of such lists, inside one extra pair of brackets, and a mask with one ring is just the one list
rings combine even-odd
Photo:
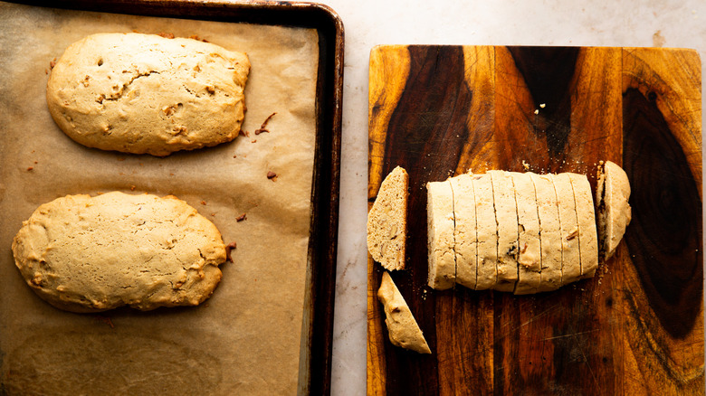
[(346, 37), (339, 257), (331, 394), (366, 392), (367, 67), (377, 44), (598, 45), (696, 49), (703, 0), (327, 0)]

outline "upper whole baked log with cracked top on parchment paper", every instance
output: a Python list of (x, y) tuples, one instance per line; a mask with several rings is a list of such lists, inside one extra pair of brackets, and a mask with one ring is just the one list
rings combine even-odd
[(212, 43), (98, 33), (66, 49), (46, 99), (81, 145), (167, 156), (238, 136), (249, 71), (247, 55)]

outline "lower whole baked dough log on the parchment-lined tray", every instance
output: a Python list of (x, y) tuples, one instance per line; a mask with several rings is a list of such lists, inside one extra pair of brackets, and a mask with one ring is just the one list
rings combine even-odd
[(37, 208), (12, 250), (27, 285), (52, 306), (99, 312), (196, 306), (221, 280), (221, 234), (173, 196), (67, 195)]

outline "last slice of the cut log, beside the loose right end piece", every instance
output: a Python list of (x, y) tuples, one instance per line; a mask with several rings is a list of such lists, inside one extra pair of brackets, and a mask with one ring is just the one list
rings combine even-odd
[(598, 268), (598, 235), (593, 193), (586, 174), (568, 174), (576, 199), (578, 251), (581, 255), (581, 278), (591, 278)]

